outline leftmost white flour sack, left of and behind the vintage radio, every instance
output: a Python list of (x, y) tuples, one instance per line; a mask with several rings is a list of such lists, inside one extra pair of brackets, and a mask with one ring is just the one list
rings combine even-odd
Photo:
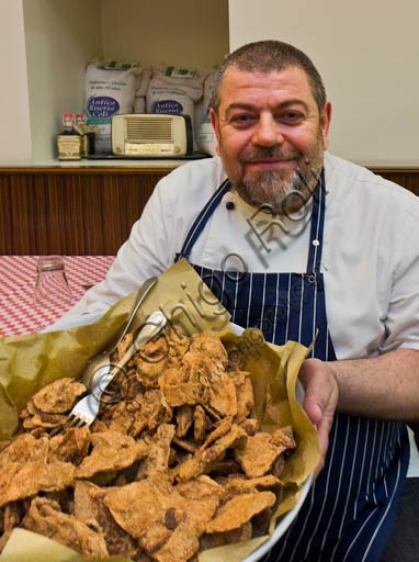
[(88, 125), (97, 125), (94, 151), (112, 151), (111, 121), (115, 113), (133, 113), (141, 68), (137, 63), (95, 60), (84, 72), (84, 113)]

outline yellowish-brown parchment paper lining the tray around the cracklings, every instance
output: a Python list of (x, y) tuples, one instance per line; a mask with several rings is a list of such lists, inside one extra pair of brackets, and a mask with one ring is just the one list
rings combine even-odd
[[(35, 392), (57, 379), (80, 376), (89, 359), (106, 349), (122, 329), (134, 299), (135, 293), (122, 299), (91, 325), (0, 339), (1, 439), (18, 429), (19, 413)], [(272, 431), (284, 425), (293, 426), (297, 449), (281, 476), (284, 497), (272, 518), (272, 532), (278, 517), (294, 507), (302, 484), (319, 461), (316, 430), (295, 396), (298, 370), (308, 349), (293, 341), (281, 347), (267, 344), (262, 333), (254, 328), (246, 329), (241, 336), (234, 335), (228, 312), (185, 260), (180, 260), (159, 277), (137, 314), (136, 325), (156, 310), (161, 310), (186, 334), (219, 334), (229, 353), (239, 353), (245, 359), (246, 370), (251, 373), (256, 411), (262, 429)], [(200, 562), (238, 562), (267, 538), (207, 550), (200, 554)], [(45, 537), (14, 529), (0, 562), (27, 560), (92, 561)], [(107, 560), (128, 562), (115, 557)]]

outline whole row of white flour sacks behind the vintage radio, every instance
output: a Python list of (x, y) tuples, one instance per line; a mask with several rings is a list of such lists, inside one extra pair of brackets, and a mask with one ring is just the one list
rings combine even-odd
[(175, 66), (93, 58), (84, 74), (84, 113), (97, 126), (95, 154), (112, 153), (111, 123), (116, 113), (189, 115), (193, 149), (215, 155), (210, 100), (215, 69), (202, 71)]

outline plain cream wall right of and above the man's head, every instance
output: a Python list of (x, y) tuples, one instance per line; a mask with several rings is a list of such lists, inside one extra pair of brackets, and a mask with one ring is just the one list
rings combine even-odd
[(230, 47), (279, 38), (305, 50), (333, 104), (330, 151), (419, 165), (417, 0), (229, 0)]

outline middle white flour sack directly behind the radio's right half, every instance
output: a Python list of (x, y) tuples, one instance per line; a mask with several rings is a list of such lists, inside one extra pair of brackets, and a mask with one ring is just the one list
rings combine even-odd
[[(154, 76), (147, 91), (147, 113), (189, 115), (194, 131), (195, 102), (201, 100), (207, 72), (178, 68), (154, 67)], [(196, 150), (196, 143), (193, 143)]]

